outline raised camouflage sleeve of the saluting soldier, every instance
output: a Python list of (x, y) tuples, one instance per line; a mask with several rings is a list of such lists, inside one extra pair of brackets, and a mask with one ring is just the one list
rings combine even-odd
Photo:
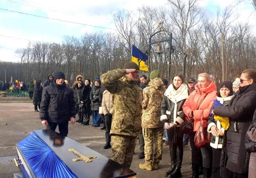
[(110, 93), (120, 93), (123, 87), (119, 79), (124, 77), (125, 74), (125, 69), (110, 70), (101, 76), (101, 83)]

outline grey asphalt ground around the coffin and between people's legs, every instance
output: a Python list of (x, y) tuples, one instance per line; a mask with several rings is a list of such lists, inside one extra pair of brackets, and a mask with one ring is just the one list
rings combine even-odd
[[(102, 124), (103, 125), (103, 124)], [(99, 152), (100, 154), (111, 158), (112, 150), (103, 150), (105, 145), (105, 131), (100, 130), (101, 127), (82, 126), (78, 123), (68, 126), (68, 137), (75, 141)], [(15, 166), (13, 158), (17, 158), (17, 151), (15, 144), (28, 137), (33, 130), (43, 130), (39, 120), (39, 113), (34, 111), (32, 103), (19, 102), (4, 102), (0, 103), (0, 177), (11, 178), (13, 173), (19, 172)], [(56, 129), (58, 131), (58, 128)], [(163, 159), (159, 164), (158, 170), (147, 171), (139, 168), (139, 164), (144, 162), (144, 159), (138, 159), (139, 141), (135, 148), (133, 156), (132, 169), (137, 173), (138, 178), (155, 178), (164, 177), (164, 172), (170, 169), (170, 153), (169, 146), (163, 146)], [(184, 147), (184, 156), (182, 163), (182, 177), (191, 177), (192, 169), (189, 165), (191, 163), (190, 146)]]

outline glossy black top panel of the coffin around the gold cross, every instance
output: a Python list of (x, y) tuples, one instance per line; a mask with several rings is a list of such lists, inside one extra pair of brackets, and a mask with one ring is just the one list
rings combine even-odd
[[(60, 136), (55, 131), (35, 130), (34, 133), (55, 152), (78, 178), (123, 178), (136, 175), (132, 170), (68, 137)], [(85, 161), (74, 162), (72, 159), (79, 157), (68, 151), (71, 148), (84, 156), (97, 156), (97, 158), (92, 159), (92, 162), (89, 163)]]

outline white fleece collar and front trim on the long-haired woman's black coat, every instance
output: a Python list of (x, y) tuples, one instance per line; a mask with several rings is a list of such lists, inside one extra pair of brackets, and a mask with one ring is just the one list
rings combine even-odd
[(186, 84), (181, 84), (178, 90), (175, 90), (171, 84), (168, 86), (164, 95), (174, 103), (173, 123), (175, 123), (177, 118), (177, 103), (188, 98), (188, 86)]

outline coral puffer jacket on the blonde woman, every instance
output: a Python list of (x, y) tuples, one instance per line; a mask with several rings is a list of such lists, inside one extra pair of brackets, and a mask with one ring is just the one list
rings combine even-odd
[[(201, 116), (203, 114), (203, 126), (206, 127), (207, 121), (210, 115), (210, 110), (213, 105), (213, 100), (216, 100), (217, 91), (216, 85), (211, 82), (206, 88), (199, 88), (198, 84), (195, 85), (195, 91), (193, 91), (183, 105), (183, 111), (189, 118), (189, 113), (193, 111), (194, 118), (194, 131), (197, 131), (200, 126)], [(202, 101), (203, 100), (203, 101)], [(201, 103), (202, 101), (202, 103)], [(200, 107), (198, 108), (199, 104)], [(193, 119), (193, 118), (189, 118)]]

